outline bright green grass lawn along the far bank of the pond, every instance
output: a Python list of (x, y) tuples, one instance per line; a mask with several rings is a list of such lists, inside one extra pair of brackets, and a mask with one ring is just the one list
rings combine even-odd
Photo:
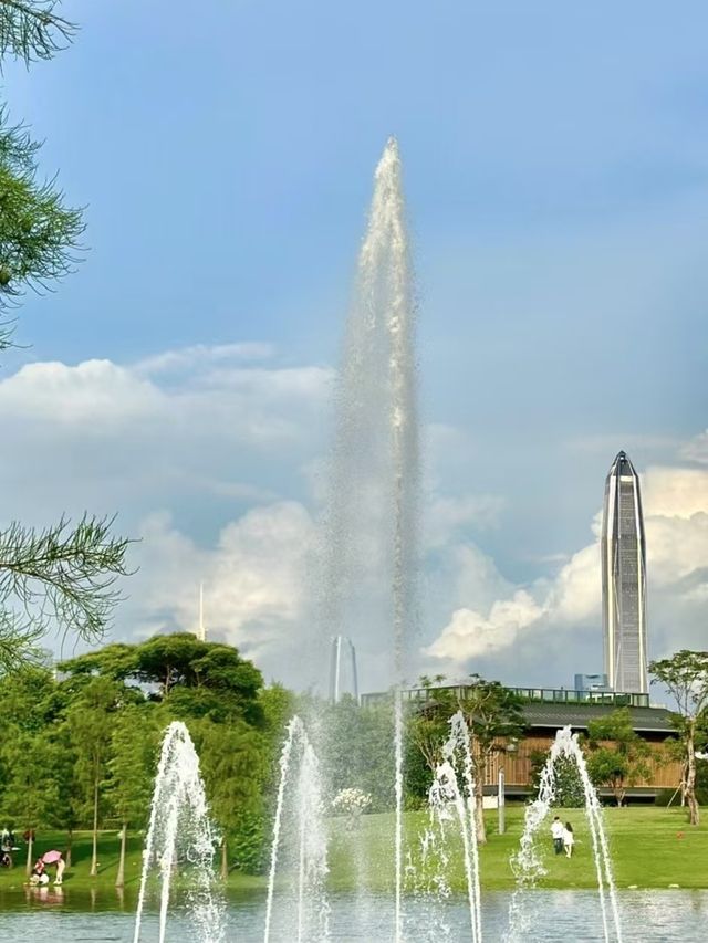
[[(549, 835), (550, 821), (544, 824), (540, 841), (548, 874), (539, 882), (545, 888), (592, 888), (596, 886), (591, 838), (581, 809), (561, 810), (563, 819), (572, 822), (576, 836), (575, 853), (571, 860), (552, 853)], [(655, 807), (607, 808), (605, 822), (617, 886), (627, 888), (708, 888), (708, 814), (706, 824), (690, 828), (680, 809)], [(510, 856), (517, 850), (521, 836), (523, 808), (507, 808), (507, 832), (496, 832), (496, 813), (488, 814), (489, 841), (480, 849), (482, 886), (488, 889), (510, 889), (513, 873)], [(412, 863), (419, 865), (420, 835), (427, 824), (425, 813), (407, 813), (405, 834), (412, 853)], [(358, 848), (360, 859), (366, 861), (365, 872), (372, 890), (388, 890), (393, 880), (393, 852), (391, 836), (393, 816), (364, 816), (354, 832), (347, 831), (342, 819), (331, 822), (330, 883), (332, 889), (346, 890), (355, 886), (357, 868), (352, 853)], [(66, 836), (58, 832), (39, 832), (35, 849), (38, 855), (50, 848), (63, 849)], [(143, 838), (129, 838), (126, 860), (126, 894), (132, 897), (139, 882)], [(454, 889), (464, 889), (465, 874), (461, 849), (455, 839), (450, 842), (449, 883)], [(91, 866), (91, 835), (74, 836), (72, 867), (64, 874), (64, 888), (69, 892), (85, 892), (90, 889), (113, 892), (118, 860), (118, 836), (115, 831), (102, 832), (100, 839), (100, 873), (88, 874)], [(21, 890), (24, 883), (23, 851), (17, 852), (13, 869), (0, 869), (0, 893)], [(409, 878), (409, 881), (413, 879)], [(266, 879), (232, 872), (228, 888), (233, 892), (262, 890)]]

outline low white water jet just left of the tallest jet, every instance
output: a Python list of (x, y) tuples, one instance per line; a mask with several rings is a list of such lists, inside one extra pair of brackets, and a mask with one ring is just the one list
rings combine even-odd
[[(298, 771), (296, 782), (293, 782), (293, 767)], [(288, 811), (292, 820), (289, 837), (292, 844), (296, 845), (295, 849), (290, 849), (295, 852), (296, 886), (296, 932), (292, 939), (298, 943), (326, 943), (330, 939), (330, 907), (324, 882), (329, 869), (320, 766), (304, 724), (298, 716), (292, 717), (288, 724), (280, 755), (280, 783), (271, 842), (263, 943), (270, 943), (271, 939), (279, 866), (283, 870), (281, 850)], [(284, 903), (281, 910), (287, 910)]]

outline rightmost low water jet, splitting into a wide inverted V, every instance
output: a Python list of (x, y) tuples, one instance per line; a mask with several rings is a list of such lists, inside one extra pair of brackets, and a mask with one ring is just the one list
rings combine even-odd
[[(585, 757), (577, 743), (577, 734), (572, 733), (570, 726), (559, 730), (555, 734), (555, 741), (549, 751), (549, 757), (541, 773), (538, 798), (527, 806), (520, 848), (512, 859), (512, 865), (517, 871), (517, 889), (511, 898), (509, 908), (509, 932), (507, 940), (509, 943), (521, 943), (521, 941), (529, 939), (530, 922), (524, 912), (527, 895), (524, 895), (523, 891), (533, 886), (535, 880), (545, 873), (534, 845), (534, 839), (555, 797), (555, 764), (561, 757), (569, 757), (575, 762), (583, 784), (585, 815), (593, 845), (593, 858), (597, 874), (600, 911), (605, 943), (612, 943), (613, 940), (616, 943), (622, 943), (620, 908), (617, 905), (617, 894), (612, 873), (607, 837), (602, 819), (602, 807), (595, 787), (587, 774)], [(607, 898), (610, 899), (610, 908), (607, 908)]]

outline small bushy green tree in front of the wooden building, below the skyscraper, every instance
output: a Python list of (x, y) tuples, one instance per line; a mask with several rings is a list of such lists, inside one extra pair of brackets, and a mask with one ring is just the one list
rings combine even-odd
[(628, 708), (612, 711), (587, 724), (587, 772), (596, 785), (610, 786), (618, 806), (627, 786), (649, 774), (652, 750), (635, 733)]

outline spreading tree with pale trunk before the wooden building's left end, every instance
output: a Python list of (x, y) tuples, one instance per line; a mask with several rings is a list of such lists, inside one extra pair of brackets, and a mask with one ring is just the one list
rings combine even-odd
[(421, 678), (428, 700), (412, 721), (410, 736), (435, 772), (449, 734), (448, 722), (456, 711), (462, 712), (471, 741), (477, 840), (483, 844), (487, 841), (483, 816), (487, 766), (493, 756), (506, 752), (509, 741), (522, 735), (525, 721), (523, 701), (518, 694), (499, 681), (486, 681), (479, 674), (470, 678), (470, 682), (455, 688), (437, 687), (444, 680), (440, 675), (434, 681)]

